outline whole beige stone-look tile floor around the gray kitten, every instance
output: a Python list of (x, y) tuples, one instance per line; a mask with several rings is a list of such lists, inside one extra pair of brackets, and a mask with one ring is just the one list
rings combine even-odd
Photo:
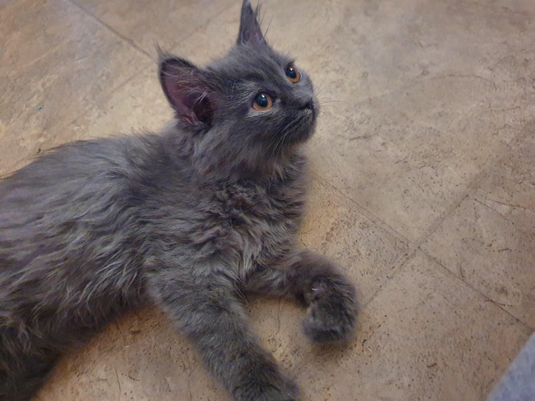
[[(302, 400), (484, 400), (535, 329), (533, 0), (264, 0), (324, 101), (302, 242), (346, 267), (357, 337), (322, 349), (251, 302)], [(155, 44), (206, 62), (239, 0), (0, 0), (0, 173), (158, 130)], [(228, 400), (149, 309), (64, 358), (36, 400)]]

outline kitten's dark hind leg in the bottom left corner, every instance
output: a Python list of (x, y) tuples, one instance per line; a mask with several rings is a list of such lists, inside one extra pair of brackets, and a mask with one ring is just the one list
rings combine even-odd
[(133, 299), (103, 295), (87, 305), (74, 303), (69, 309), (0, 320), (0, 401), (30, 400), (64, 352), (86, 343), (135, 306)]

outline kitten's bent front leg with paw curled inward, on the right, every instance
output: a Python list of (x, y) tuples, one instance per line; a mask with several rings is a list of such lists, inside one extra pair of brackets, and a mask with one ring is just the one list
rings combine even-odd
[[(281, 266), (282, 265), (282, 266)], [(278, 266), (259, 269), (247, 291), (294, 298), (308, 306), (305, 335), (320, 343), (346, 340), (355, 330), (355, 287), (330, 260), (302, 250)]]

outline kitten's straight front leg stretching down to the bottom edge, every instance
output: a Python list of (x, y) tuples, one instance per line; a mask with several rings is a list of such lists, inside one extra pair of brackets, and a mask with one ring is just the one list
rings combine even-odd
[(176, 269), (152, 274), (149, 290), (236, 401), (297, 401), (298, 389), (251, 332), (228, 280)]

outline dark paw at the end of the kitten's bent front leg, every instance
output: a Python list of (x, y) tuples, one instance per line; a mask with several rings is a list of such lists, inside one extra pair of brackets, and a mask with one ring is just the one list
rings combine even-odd
[(357, 321), (353, 287), (319, 282), (311, 291), (313, 296), (303, 324), (305, 335), (318, 343), (349, 339)]

